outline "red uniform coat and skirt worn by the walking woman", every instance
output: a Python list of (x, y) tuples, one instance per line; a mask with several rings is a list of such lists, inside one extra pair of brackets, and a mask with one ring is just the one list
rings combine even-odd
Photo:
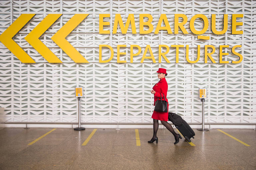
[[(164, 97), (165, 97), (165, 101), (168, 102), (168, 99), (166, 98), (168, 84), (167, 84), (165, 78), (162, 78), (157, 84), (155, 84), (153, 87), (153, 90), (156, 91), (156, 93), (154, 94), (154, 106), (155, 106), (155, 102), (157, 101), (158, 98), (159, 98), (159, 100), (161, 100), (160, 93), (162, 95), (162, 100), (164, 100)], [(169, 108), (169, 104), (168, 104), (168, 108)], [(157, 119), (160, 121), (168, 121), (168, 111), (166, 113), (154, 111), (151, 118)]]

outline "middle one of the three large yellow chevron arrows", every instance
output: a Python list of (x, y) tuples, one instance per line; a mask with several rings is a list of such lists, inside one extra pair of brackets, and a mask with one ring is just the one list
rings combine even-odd
[(62, 61), (39, 40), (39, 37), (60, 18), (62, 14), (48, 14), (26, 37), (25, 40), (32, 45), (48, 62), (62, 63)]

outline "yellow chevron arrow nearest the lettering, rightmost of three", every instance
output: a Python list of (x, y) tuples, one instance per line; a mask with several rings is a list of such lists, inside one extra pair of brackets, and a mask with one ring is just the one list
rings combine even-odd
[(89, 14), (75, 14), (56, 34), (52, 40), (76, 63), (88, 61), (65, 39)]

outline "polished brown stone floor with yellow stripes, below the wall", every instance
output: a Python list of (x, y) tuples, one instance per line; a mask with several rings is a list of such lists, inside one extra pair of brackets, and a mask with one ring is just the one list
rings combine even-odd
[[(147, 141), (152, 129), (102, 129), (84, 141), (94, 130), (57, 128), (35, 143), (30, 142), (53, 128), (5, 128), (0, 130), (0, 169), (2, 170), (255, 170), (256, 130), (218, 129), (198, 131), (190, 145), (184, 138), (176, 145), (168, 130), (159, 129), (158, 144)], [(176, 129), (175, 129), (176, 130)]]

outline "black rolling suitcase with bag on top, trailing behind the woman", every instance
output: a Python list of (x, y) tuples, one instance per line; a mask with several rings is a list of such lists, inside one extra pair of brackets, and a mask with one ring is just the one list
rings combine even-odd
[(184, 121), (181, 116), (169, 112), (168, 120), (171, 121), (175, 127), (181, 132), (181, 134), (185, 137), (188, 142), (191, 142), (191, 137), (194, 138), (195, 132), (194, 130), (188, 125), (186, 121)]

